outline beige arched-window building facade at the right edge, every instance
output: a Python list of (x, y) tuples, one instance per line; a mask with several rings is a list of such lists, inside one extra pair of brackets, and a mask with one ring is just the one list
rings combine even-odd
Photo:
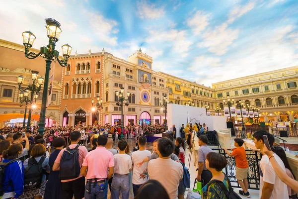
[(260, 121), (298, 119), (298, 66), (212, 84), (223, 109), (226, 96), (260, 109)]

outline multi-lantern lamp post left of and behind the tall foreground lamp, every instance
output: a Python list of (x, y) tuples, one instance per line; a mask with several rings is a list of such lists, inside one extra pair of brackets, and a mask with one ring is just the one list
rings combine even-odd
[[(38, 78), (38, 71), (31, 71), (31, 78), (32, 78), (32, 84), (28, 85), (26, 88), (22, 88), (23, 80), (24, 78), (22, 76), (17, 77), (17, 84), (18, 84), (18, 90), (22, 93), (19, 94), (19, 100), (20, 103), (26, 102), (25, 106), (25, 114), (24, 114), (24, 121), (23, 121), (23, 128), (25, 127), (26, 122), (26, 114), (27, 114), (27, 105), (28, 102), (31, 102), (31, 107), (29, 108), (28, 112), (28, 121), (27, 121), (27, 129), (29, 130), (30, 124), (31, 124), (31, 113), (32, 113), (32, 106), (33, 106), (33, 98), (36, 101), (38, 98), (38, 94), (41, 90), (41, 86), (43, 84), (44, 79)], [(36, 82), (37, 81), (37, 82)], [(34, 102), (35, 102), (34, 101)]]

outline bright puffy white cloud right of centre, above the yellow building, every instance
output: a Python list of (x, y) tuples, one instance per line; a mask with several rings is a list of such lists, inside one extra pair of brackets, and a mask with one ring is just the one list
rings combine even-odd
[(226, 53), (229, 45), (238, 38), (239, 29), (231, 29), (224, 23), (215, 27), (213, 31), (205, 32), (202, 37), (204, 41), (198, 44), (199, 47), (206, 47), (210, 52), (217, 55), (223, 55)]

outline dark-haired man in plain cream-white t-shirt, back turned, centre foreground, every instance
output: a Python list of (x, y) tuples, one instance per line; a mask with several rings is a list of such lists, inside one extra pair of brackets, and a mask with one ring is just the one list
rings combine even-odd
[(159, 158), (150, 160), (148, 174), (150, 180), (157, 180), (166, 190), (170, 199), (177, 199), (179, 182), (183, 179), (183, 167), (180, 162), (170, 159), (175, 148), (168, 138), (160, 138), (157, 145)]

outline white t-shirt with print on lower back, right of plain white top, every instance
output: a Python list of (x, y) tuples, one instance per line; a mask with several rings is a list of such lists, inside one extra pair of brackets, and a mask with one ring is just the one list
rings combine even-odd
[[(151, 155), (151, 152), (148, 150), (144, 151), (135, 151), (132, 154), (133, 164), (137, 164), (142, 162), (144, 158)], [(148, 177), (148, 162), (143, 163), (143, 165), (139, 168), (137, 165), (134, 166), (133, 170), (133, 184), (134, 185), (142, 185), (149, 180)]]

